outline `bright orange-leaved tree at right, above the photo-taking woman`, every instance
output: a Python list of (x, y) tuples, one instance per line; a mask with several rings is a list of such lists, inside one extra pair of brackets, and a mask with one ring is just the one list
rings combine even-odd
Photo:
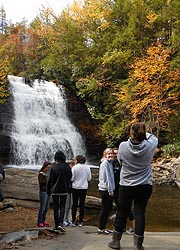
[(157, 136), (169, 133), (170, 118), (179, 116), (180, 71), (171, 70), (170, 56), (171, 50), (160, 43), (149, 47), (131, 66), (129, 91), (123, 86), (119, 94), (119, 101), (127, 95), (131, 122), (145, 121)]

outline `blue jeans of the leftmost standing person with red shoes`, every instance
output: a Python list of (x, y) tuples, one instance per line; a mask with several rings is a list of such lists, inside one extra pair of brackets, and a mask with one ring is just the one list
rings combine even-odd
[(40, 208), (38, 213), (37, 225), (39, 225), (40, 223), (44, 223), (44, 221), (46, 220), (46, 214), (50, 204), (50, 196), (48, 196), (46, 192), (40, 191), (39, 199), (40, 199)]

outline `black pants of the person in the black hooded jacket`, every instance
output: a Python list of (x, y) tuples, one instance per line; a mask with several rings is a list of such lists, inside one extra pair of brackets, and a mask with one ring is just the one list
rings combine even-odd
[(55, 228), (63, 226), (67, 195), (52, 195)]

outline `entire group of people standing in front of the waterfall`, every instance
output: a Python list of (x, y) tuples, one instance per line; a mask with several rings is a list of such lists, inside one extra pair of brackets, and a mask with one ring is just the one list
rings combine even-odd
[[(144, 123), (137, 122), (130, 128), (130, 138), (121, 142), (119, 148), (104, 150), (99, 166), (98, 190), (102, 203), (98, 233), (112, 233), (112, 240), (108, 244), (110, 248), (121, 248), (120, 240), (129, 218), (134, 222), (134, 249), (144, 249), (145, 210), (152, 193), (151, 161), (157, 144), (156, 136), (146, 132)], [(78, 155), (70, 167), (64, 153), (58, 151), (54, 163), (44, 163), (45, 166), (39, 172), (39, 181), (46, 179), (47, 192), (45, 199), (45, 195), (41, 194), (45, 192), (44, 188), (40, 185), (43, 209), (40, 206), (38, 226), (47, 225), (45, 217), (50, 196), (53, 200), (55, 230), (65, 231), (64, 226), (70, 223), (70, 209), (72, 226), (75, 226), (78, 207), (79, 226), (83, 226), (85, 198), (91, 180), (91, 170), (85, 162), (86, 158)], [(106, 229), (106, 224), (113, 201), (117, 211), (114, 230), (110, 232)]]

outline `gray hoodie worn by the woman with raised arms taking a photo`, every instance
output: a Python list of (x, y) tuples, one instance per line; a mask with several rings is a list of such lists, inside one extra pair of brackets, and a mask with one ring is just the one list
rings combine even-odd
[(133, 144), (131, 139), (119, 145), (118, 161), (122, 162), (120, 185), (152, 185), (151, 161), (158, 144), (155, 135), (146, 133), (147, 140)]

